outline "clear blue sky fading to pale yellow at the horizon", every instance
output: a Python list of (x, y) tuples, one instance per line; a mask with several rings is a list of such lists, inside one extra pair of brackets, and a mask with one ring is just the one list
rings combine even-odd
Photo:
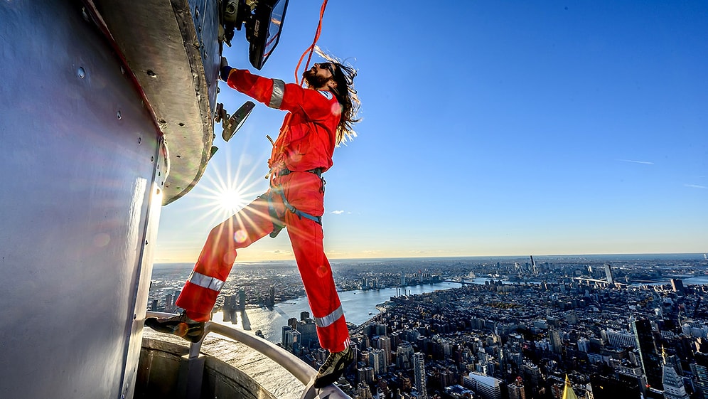
[[(294, 81), (320, 5), (290, 2), (260, 75)], [(358, 69), (363, 119), (325, 174), (328, 256), (708, 252), (707, 38), (706, 1), (330, 1), (318, 45)], [(284, 115), (257, 105), (228, 143), (218, 125), (156, 262), (194, 262), (220, 187), (267, 190)], [(285, 233), (237, 260), (282, 259)]]

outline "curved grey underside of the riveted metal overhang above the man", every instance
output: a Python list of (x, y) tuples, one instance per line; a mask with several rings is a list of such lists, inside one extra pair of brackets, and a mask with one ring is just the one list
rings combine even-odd
[(163, 201), (175, 201), (199, 181), (210, 157), (220, 60), (217, 1), (90, 3), (166, 135), (171, 173)]

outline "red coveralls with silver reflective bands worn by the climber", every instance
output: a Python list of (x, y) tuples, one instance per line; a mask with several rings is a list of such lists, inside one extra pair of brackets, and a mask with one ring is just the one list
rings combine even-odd
[[(247, 70), (232, 70), (227, 84), (269, 107), (289, 113), (268, 161), (271, 188), (211, 230), (176, 304), (191, 319), (210, 319), (236, 260), (237, 248), (245, 248), (274, 230), (270, 199), (280, 223), (288, 231), (320, 346), (331, 352), (343, 351), (349, 346), (349, 331), (323, 250), (322, 226), (288, 211), (281, 194), (274, 191), (281, 188), (286, 200), (297, 210), (322, 216), (324, 182), (309, 171), (318, 168), (326, 171), (332, 166), (341, 106), (331, 92), (304, 89)], [(288, 170), (291, 173), (283, 174)]]

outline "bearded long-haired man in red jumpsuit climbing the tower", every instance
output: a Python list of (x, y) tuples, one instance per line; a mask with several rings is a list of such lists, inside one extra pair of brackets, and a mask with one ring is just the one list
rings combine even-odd
[(262, 196), (211, 230), (177, 299), (183, 314), (146, 319), (146, 326), (197, 342), (204, 336), (218, 294), (236, 260), (236, 250), (286, 228), (317, 326), (320, 346), (330, 354), (314, 381), (321, 388), (336, 381), (353, 363), (349, 331), (332, 269), (323, 250), (321, 216), (324, 180), (334, 148), (353, 137), (358, 98), (353, 68), (316, 63), (303, 73), (307, 87), (262, 78), (231, 68), (222, 58), (221, 78), (269, 107), (286, 110), (270, 167), (271, 186)]

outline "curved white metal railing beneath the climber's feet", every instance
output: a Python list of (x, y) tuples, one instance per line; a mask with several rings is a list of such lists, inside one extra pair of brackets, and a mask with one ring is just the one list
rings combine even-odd
[[(147, 312), (146, 317), (171, 317), (175, 314), (163, 313), (163, 312)], [(207, 321), (204, 326), (205, 334), (207, 336), (210, 333), (219, 334), (220, 336), (225, 336), (235, 341), (239, 341), (242, 344), (250, 347), (254, 351), (263, 353), (265, 356), (270, 358), (275, 363), (286, 369), (295, 378), (297, 378), (303, 385), (305, 385), (304, 392), (301, 395), (301, 399), (312, 399), (312, 398), (327, 398), (331, 399), (351, 399), (346, 395), (338, 386), (329, 385), (326, 388), (316, 389), (312, 386), (314, 376), (317, 371), (310, 367), (309, 364), (301, 361), (300, 358), (294, 354), (282, 349), (280, 346), (273, 344), (270, 341), (262, 339), (258, 336), (252, 334), (247, 334), (242, 330), (235, 329), (230, 326), (225, 326), (223, 324), (218, 324), (213, 321)], [(202, 339), (199, 342), (191, 344), (189, 347), (189, 358), (197, 358), (202, 347)]]

